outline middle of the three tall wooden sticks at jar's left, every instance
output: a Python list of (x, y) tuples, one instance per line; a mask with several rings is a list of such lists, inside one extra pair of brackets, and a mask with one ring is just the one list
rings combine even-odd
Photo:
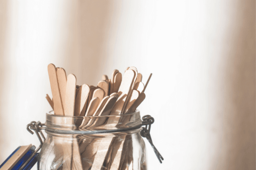
[(59, 90), (61, 92), (61, 100), (62, 100), (62, 103), (65, 103), (67, 76), (63, 68), (57, 69), (57, 77), (59, 82)]

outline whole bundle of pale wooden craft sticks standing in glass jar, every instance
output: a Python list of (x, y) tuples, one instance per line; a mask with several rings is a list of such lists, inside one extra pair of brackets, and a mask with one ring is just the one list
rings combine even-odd
[[(152, 76), (149, 75), (144, 85), (141, 82), (142, 75), (137, 72), (136, 67), (128, 67), (123, 76), (118, 70), (112, 72), (110, 79), (107, 75), (103, 75), (97, 86), (76, 85), (75, 75), (67, 76), (63, 68), (55, 67), (54, 64), (48, 65), (48, 75), (53, 98), (51, 99), (47, 94), (46, 99), (53, 108), (54, 114), (59, 116), (108, 116), (133, 113), (145, 99), (144, 91)], [(72, 145), (73, 149), (76, 147), (79, 150), (80, 144)], [(73, 158), (78, 158), (72, 165), (63, 165), (67, 166), (67, 169), (96, 170), (100, 169), (103, 163), (98, 161), (97, 165), (93, 163), (92, 166), (85, 167), (79, 159), (80, 155), (68, 150), (66, 153), (72, 153)]]

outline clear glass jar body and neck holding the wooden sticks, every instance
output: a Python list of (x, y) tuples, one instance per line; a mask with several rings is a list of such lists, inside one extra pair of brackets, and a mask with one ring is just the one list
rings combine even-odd
[[(53, 113), (53, 112), (52, 112)], [(137, 111), (112, 116), (46, 114), (38, 170), (146, 170)]]

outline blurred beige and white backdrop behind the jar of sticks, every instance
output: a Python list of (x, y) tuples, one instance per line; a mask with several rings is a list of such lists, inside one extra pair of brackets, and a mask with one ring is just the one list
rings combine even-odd
[[(255, 170), (255, 0), (1, 0), (0, 162), (45, 121), (47, 65), (77, 83), (152, 72), (149, 170)], [(34, 168), (35, 169), (35, 168)]]

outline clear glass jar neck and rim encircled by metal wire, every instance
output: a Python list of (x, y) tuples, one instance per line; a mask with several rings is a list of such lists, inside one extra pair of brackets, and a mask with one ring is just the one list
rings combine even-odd
[(125, 135), (141, 130), (139, 111), (111, 116), (56, 116), (46, 114), (45, 132), (52, 135)]

